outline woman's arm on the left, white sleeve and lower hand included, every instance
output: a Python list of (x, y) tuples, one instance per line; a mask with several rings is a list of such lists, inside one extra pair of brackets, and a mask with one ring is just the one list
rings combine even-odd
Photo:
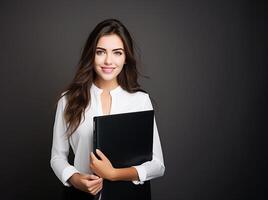
[(68, 163), (70, 144), (66, 135), (64, 120), (65, 97), (57, 105), (53, 127), (53, 142), (50, 164), (56, 176), (65, 186), (74, 186), (84, 192), (96, 195), (102, 189), (102, 178), (94, 175), (81, 174), (74, 166)]

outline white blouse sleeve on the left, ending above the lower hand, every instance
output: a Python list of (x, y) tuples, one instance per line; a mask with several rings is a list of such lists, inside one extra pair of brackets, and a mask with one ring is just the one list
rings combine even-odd
[(78, 170), (68, 163), (69, 141), (66, 135), (66, 123), (64, 120), (65, 96), (57, 104), (55, 122), (53, 127), (53, 142), (51, 149), (50, 165), (59, 180), (70, 186), (67, 180)]

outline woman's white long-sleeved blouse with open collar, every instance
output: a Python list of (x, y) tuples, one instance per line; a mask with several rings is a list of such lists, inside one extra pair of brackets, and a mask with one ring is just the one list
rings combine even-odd
[[(67, 124), (64, 120), (66, 97), (63, 96), (58, 101), (53, 128), (50, 164), (56, 176), (65, 186), (70, 186), (68, 179), (74, 173), (92, 174), (89, 167), (89, 155), (93, 151), (93, 117), (103, 115), (100, 97), (102, 91), (95, 84), (92, 84), (90, 88), (91, 103), (85, 110), (85, 120), (82, 118), (79, 127), (69, 139), (65, 133)], [(112, 98), (110, 114), (153, 109), (149, 95), (144, 92), (129, 93), (118, 86), (111, 90), (110, 94)], [(70, 165), (68, 162), (70, 145), (75, 155), (74, 165)], [(144, 181), (164, 174), (165, 166), (155, 119), (153, 159), (133, 167), (136, 168), (139, 176), (139, 181), (133, 181), (134, 184), (142, 184)]]

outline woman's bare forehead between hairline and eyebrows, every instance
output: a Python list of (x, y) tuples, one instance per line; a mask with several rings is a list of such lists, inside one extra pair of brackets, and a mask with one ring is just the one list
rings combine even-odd
[(118, 35), (112, 34), (100, 37), (97, 47), (102, 47), (105, 49), (117, 49), (124, 48), (124, 44)]

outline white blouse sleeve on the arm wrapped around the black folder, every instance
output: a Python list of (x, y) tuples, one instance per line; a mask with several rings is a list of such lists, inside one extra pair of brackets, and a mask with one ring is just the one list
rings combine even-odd
[[(149, 95), (146, 95), (144, 110), (153, 110)], [(164, 175), (165, 166), (155, 118), (153, 133), (153, 158), (151, 161), (147, 161), (141, 165), (134, 167), (136, 168), (139, 176), (139, 181), (133, 181), (134, 184), (143, 184), (144, 181)]]

